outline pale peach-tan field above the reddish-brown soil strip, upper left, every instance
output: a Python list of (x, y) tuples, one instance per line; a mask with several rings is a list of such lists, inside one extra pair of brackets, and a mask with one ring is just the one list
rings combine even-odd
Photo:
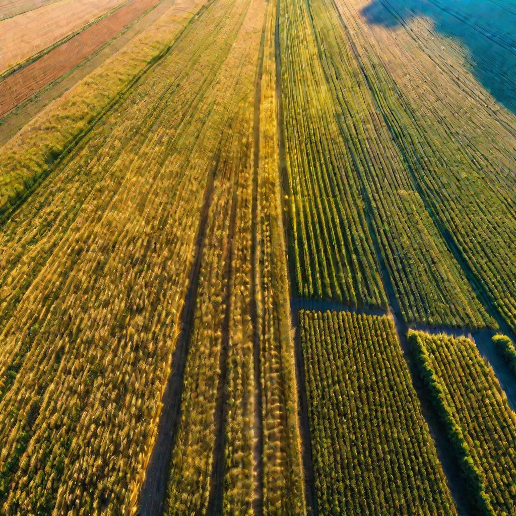
[(122, 0), (63, 0), (0, 22), (0, 73), (99, 18)]

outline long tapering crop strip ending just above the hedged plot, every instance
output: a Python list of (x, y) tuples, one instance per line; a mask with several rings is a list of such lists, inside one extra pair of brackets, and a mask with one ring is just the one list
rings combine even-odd
[(404, 158), (391, 141), (340, 13), (327, 0), (307, 3), (307, 10), (334, 99), (334, 116), (369, 204), (379, 250), (404, 318), (435, 325), (492, 324), (426, 212)]

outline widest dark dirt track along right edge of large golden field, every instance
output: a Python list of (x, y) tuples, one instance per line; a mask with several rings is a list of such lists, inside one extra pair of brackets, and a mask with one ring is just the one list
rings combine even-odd
[(183, 373), (191, 329), (193, 327), (193, 314), (195, 312), (197, 292), (199, 289), (199, 271), (204, 254), (208, 213), (213, 199), (213, 181), (217, 165), (218, 158), (215, 160), (215, 166), (208, 177), (204, 191), (204, 201), (196, 239), (196, 258), (190, 272), (189, 286), (181, 316), (181, 333), (178, 336), (178, 342), (172, 357), (172, 373), (170, 374), (163, 395), (163, 410), (159, 417), (156, 441), (147, 467), (146, 478), (140, 491), (140, 509), (137, 516), (157, 516), (163, 512), (168, 466), (174, 440), (173, 436), (179, 421), (181, 409)]

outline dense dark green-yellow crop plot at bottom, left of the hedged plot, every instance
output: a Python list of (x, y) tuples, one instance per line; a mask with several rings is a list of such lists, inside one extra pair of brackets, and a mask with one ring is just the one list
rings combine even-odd
[(319, 514), (457, 514), (393, 322), (300, 320)]

